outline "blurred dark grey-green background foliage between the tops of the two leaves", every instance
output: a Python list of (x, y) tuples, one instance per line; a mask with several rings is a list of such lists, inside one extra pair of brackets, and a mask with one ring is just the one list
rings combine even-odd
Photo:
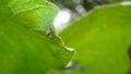
[(92, 10), (97, 5), (112, 4), (121, 1), (131, 0), (49, 0), (57, 4), (61, 10), (69, 9), (72, 12), (72, 18), (82, 16), (87, 11)]

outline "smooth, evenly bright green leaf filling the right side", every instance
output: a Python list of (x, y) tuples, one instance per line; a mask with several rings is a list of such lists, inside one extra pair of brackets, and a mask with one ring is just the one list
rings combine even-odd
[(61, 36), (68, 46), (76, 49), (74, 63), (81, 64), (82, 74), (127, 74), (131, 5), (96, 8), (66, 28)]

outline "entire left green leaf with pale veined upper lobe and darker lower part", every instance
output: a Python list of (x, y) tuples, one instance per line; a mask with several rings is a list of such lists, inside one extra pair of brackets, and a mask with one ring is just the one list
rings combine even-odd
[(0, 74), (45, 74), (68, 64), (73, 52), (49, 30), (57, 12), (46, 0), (0, 0)]

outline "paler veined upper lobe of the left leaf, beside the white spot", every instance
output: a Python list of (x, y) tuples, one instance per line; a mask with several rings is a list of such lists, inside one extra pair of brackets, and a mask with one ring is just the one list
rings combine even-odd
[(1, 0), (0, 3), (2, 3), (0, 7), (1, 21), (11, 20), (39, 30), (52, 26), (53, 17), (58, 12), (56, 5), (43, 0)]

